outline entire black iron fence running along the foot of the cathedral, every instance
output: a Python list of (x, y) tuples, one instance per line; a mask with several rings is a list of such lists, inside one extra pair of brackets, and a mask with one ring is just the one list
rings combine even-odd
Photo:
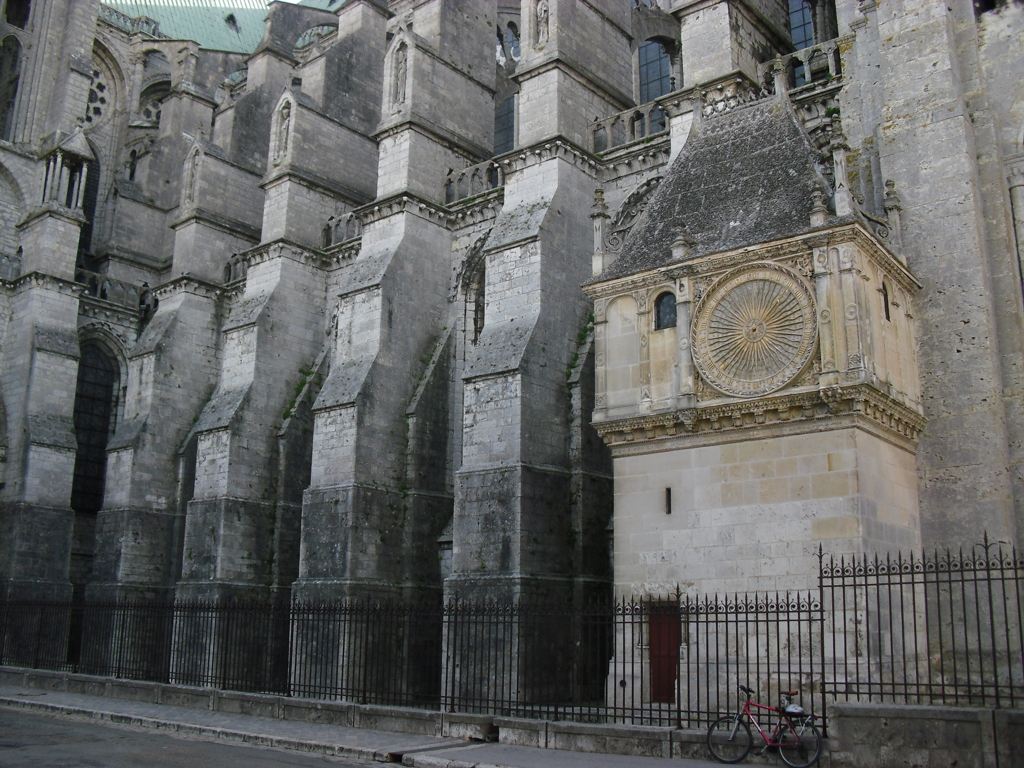
[(1020, 707), (1024, 559), (820, 557), (806, 593), (588, 605), (0, 603), (0, 663), (449, 712), (700, 727), (777, 702)]

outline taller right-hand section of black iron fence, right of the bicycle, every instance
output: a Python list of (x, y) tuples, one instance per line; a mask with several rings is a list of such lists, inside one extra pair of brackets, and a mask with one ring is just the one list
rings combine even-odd
[(1024, 703), (1024, 557), (968, 551), (821, 556), (824, 692), (837, 699)]

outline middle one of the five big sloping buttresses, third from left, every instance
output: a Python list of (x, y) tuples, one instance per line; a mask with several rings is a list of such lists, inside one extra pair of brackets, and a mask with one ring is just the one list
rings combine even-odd
[(221, 329), (218, 386), (195, 428), (179, 595), (269, 586), (274, 528), (298, 524), (276, 518), (267, 501), (278, 489), (278, 427), (319, 352), (324, 305), (323, 276), (306, 252), (275, 244), (250, 255), (245, 293)]

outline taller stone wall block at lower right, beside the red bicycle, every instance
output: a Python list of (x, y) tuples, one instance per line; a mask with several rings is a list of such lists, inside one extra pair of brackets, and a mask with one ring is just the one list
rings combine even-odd
[(1024, 711), (837, 703), (831, 768), (1024, 766)]

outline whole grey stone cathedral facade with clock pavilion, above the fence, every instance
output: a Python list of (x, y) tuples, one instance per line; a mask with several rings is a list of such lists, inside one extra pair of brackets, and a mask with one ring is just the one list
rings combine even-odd
[(4, 597), (1019, 543), (1019, 3), (0, 6)]

